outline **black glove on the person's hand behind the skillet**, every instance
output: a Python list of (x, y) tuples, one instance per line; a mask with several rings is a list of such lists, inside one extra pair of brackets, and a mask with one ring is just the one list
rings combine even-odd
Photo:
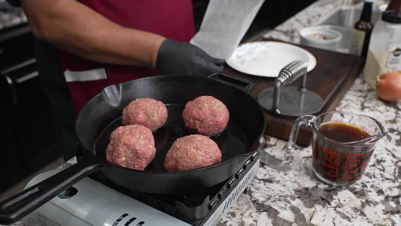
[(155, 68), (164, 75), (207, 77), (223, 71), (224, 60), (211, 57), (186, 42), (165, 39), (160, 45)]

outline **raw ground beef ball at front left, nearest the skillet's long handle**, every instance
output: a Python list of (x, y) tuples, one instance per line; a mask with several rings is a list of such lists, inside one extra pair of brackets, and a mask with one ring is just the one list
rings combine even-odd
[(152, 131), (143, 125), (117, 127), (106, 149), (108, 162), (136, 170), (144, 170), (155, 154)]

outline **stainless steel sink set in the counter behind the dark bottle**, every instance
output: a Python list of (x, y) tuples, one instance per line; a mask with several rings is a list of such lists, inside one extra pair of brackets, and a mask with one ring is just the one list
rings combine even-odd
[[(349, 53), (351, 47), (354, 24), (359, 20), (362, 13), (363, 4), (356, 6), (346, 6), (340, 8), (332, 15), (323, 19), (316, 26), (328, 27), (339, 31), (342, 34), (339, 52)], [(371, 22), (375, 24), (380, 18), (381, 12), (378, 8), (373, 7)]]

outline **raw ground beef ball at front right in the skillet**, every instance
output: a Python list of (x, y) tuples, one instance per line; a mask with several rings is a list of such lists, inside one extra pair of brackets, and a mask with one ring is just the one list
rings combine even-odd
[(219, 146), (203, 135), (189, 135), (178, 138), (168, 150), (164, 160), (167, 171), (184, 171), (221, 162)]

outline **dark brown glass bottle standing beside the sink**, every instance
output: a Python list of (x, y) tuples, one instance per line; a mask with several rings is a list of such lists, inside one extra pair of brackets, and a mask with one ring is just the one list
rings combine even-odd
[(350, 53), (366, 57), (368, 53), (369, 40), (373, 30), (371, 22), (373, 0), (365, 0), (359, 21), (354, 25), (354, 39)]

